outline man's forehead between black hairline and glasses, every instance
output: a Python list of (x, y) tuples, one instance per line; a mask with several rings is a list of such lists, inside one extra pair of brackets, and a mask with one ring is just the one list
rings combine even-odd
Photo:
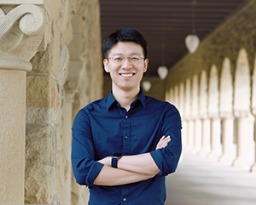
[(140, 44), (134, 42), (119, 42), (113, 45), (110, 49), (109, 55), (114, 54), (140, 54), (143, 55), (143, 48)]

